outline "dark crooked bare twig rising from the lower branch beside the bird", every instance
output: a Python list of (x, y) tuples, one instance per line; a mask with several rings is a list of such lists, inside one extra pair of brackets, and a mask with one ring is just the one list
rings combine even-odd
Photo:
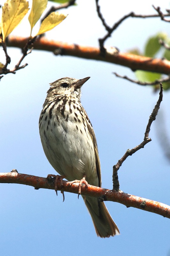
[(121, 167), (122, 163), (126, 160), (126, 158), (128, 156), (132, 156), (135, 152), (137, 152), (137, 150), (144, 148), (144, 146), (151, 141), (151, 138), (149, 138), (149, 132), (150, 132), (150, 128), (151, 128), (151, 124), (152, 122), (156, 119), (156, 115), (158, 114), (158, 110), (160, 107), (160, 103), (162, 101), (163, 98), (163, 86), (160, 83), (160, 92), (159, 92), (159, 99), (152, 111), (151, 116), (149, 117), (149, 121), (148, 124), (146, 126), (146, 131), (144, 133), (144, 140), (142, 141), (142, 143), (140, 143), (138, 146), (136, 146), (135, 148), (132, 149), (128, 149), (126, 151), (126, 153), (124, 154), (124, 156), (122, 156), (122, 158), (118, 161), (117, 164), (115, 164), (113, 166), (113, 190), (118, 191), (120, 186), (119, 186), (119, 180), (118, 180), (118, 170)]

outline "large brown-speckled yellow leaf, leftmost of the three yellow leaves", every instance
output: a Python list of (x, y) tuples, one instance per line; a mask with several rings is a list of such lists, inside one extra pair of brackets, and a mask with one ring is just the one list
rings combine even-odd
[(2, 7), (2, 36), (3, 41), (19, 24), (28, 12), (26, 0), (7, 0)]

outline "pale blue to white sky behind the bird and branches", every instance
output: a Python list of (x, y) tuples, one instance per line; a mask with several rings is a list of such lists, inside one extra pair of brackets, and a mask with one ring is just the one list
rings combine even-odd
[[(1, 1), (2, 3), (4, 1)], [(112, 26), (123, 15), (152, 14), (152, 4), (162, 10), (169, 1), (99, 1), (106, 21)], [(95, 1), (77, 1), (77, 6), (61, 12), (68, 17), (47, 32), (49, 39), (98, 46), (106, 34), (99, 20)], [(48, 8), (51, 4), (48, 4)], [(26, 19), (12, 34), (29, 36)], [(38, 31), (35, 28), (35, 33)], [(154, 19), (125, 20), (106, 45), (122, 52), (138, 47), (141, 51), (149, 36), (160, 31), (169, 36), (170, 24)], [(11, 67), (20, 58), (20, 50), (9, 48)], [(4, 53), (0, 51), (1, 61)], [(41, 177), (56, 173), (43, 152), (38, 121), (49, 83), (65, 76), (91, 78), (83, 85), (82, 105), (92, 122), (99, 148), (102, 187), (112, 189), (112, 166), (143, 141), (148, 119), (158, 100), (150, 86), (139, 86), (112, 72), (135, 78), (129, 68), (95, 60), (54, 56), (51, 52), (33, 50), (23, 64), (29, 65), (8, 74), (0, 82), (0, 163), (1, 172), (17, 169)], [(120, 189), (126, 193), (170, 204), (170, 161), (161, 143), (168, 131), (170, 92), (164, 92), (157, 120), (152, 124), (152, 142), (122, 164)], [(165, 127), (162, 127), (162, 118)], [(168, 133), (170, 138), (170, 133)], [(160, 141), (161, 140), (161, 141)], [(19, 184), (0, 186), (0, 254), (11, 255), (170, 255), (170, 220), (151, 212), (113, 202), (107, 208), (120, 229), (120, 236), (99, 238), (95, 234), (85, 204), (77, 195)]]

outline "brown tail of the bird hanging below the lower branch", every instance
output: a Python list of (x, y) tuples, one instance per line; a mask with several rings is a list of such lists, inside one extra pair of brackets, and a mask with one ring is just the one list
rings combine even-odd
[(100, 237), (119, 235), (119, 229), (110, 216), (104, 202), (98, 202), (97, 198), (83, 196), (85, 205), (89, 210), (96, 233)]

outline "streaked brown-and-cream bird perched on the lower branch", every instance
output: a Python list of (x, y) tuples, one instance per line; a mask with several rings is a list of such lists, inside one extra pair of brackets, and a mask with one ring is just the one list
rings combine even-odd
[[(64, 77), (50, 84), (39, 129), (49, 163), (68, 181), (85, 179), (101, 187), (100, 160), (92, 124), (81, 105), (81, 87), (90, 77)], [(119, 234), (104, 202), (82, 196), (100, 237)]]

